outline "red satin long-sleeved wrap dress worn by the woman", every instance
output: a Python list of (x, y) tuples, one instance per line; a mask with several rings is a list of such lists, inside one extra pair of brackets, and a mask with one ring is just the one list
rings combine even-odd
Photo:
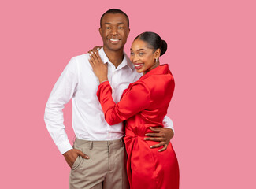
[(174, 80), (168, 65), (159, 65), (131, 83), (117, 104), (113, 102), (108, 81), (98, 86), (98, 100), (108, 124), (126, 120), (124, 143), (132, 189), (179, 188), (179, 166), (172, 144), (158, 152), (158, 148), (150, 149), (158, 142), (143, 140), (146, 133), (152, 132), (149, 127), (163, 127), (173, 90)]

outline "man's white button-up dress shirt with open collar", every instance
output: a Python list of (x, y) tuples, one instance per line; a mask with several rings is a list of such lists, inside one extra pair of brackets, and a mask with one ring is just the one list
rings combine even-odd
[[(102, 61), (108, 63), (108, 79), (113, 89), (113, 100), (119, 102), (129, 83), (142, 76), (135, 71), (134, 65), (124, 54), (124, 59), (117, 68), (109, 61), (103, 48), (98, 51)], [(78, 139), (99, 141), (115, 140), (124, 136), (123, 123), (109, 126), (98, 102), (98, 78), (88, 61), (89, 54), (72, 57), (69, 64), (55, 83), (46, 104), (44, 120), (54, 143), (61, 154), (71, 150), (63, 124), (65, 104), (72, 99), (72, 127)], [(173, 122), (165, 117), (164, 125), (173, 129)]]

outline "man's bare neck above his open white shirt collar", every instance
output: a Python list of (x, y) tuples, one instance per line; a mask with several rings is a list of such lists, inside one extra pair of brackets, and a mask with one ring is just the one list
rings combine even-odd
[(103, 50), (106, 56), (109, 58), (109, 61), (113, 63), (113, 65), (117, 66), (121, 64), (124, 59), (124, 47), (121, 50), (109, 50), (105, 46), (103, 46)]

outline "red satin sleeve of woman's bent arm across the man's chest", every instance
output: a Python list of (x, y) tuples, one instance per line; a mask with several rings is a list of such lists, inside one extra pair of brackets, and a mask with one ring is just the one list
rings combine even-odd
[(106, 122), (110, 125), (127, 120), (150, 105), (150, 91), (143, 82), (132, 83), (117, 104), (113, 101), (109, 81), (98, 86), (97, 96)]

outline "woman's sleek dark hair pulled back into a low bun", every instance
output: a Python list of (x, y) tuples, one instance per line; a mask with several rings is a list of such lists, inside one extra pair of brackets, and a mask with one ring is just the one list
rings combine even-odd
[(150, 45), (150, 48), (153, 48), (154, 51), (160, 49), (160, 56), (165, 54), (167, 50), (167, 43), (165, 42), (165, 40), (162, 40), (161, 37), (154, 32), (143, 32), (142, 34), (139, 34), (134, 40), (136, 39), (140, 39), (144, 42), (147, 42)]

